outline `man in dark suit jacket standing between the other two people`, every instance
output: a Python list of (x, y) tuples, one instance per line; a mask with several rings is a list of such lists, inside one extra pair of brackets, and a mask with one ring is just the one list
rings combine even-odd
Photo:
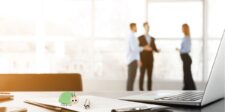
[(152, 90), (152, 70), (153, 70), (153, 62), (154, 62), (153, 53), (159, 52), (155, 44), (155, 38), (149, 35), (149, 29), (150, 29), (149, 24), (145, 22), (143, 24), (143, 27), (145, 29), (145, 34), (141, 35), (138, 38), (139, 46), (141, 47), (140, 58), (142, 63), (142, 66), (140, 68), (140, 80), (139, 80), (139, 89), (141, 91), (144, 90), (143, 84), (144, 84), (144, 76), (146, 71), (148, 74), (147, 89)]

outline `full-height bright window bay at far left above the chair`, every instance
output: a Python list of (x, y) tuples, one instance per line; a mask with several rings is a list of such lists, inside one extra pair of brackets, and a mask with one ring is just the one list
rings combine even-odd
[[(32, 72), (35, 67), (37, 0), (0, 1), (0, 73)], [(29, 5), (27, 5), (29, 4)]]

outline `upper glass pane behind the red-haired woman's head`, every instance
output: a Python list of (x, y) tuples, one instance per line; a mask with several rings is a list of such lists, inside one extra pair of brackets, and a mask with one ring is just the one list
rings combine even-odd
[(202, 1), (149, 1), (150, 33), (159, 38), (182, 37), (181, 25), (188, 23), (192, 38), (202, 38)]

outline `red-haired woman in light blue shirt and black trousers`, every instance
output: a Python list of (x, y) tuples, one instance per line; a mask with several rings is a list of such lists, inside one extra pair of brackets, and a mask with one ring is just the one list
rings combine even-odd
[(183, 24), (182, 31), (184, 33), (184, 37), (181, 43), (181, 49), (177, 50), (180, 51), (181, 60), (183, 62), (183, 90), (196, 90), (196, 86), (191, 73), (192, 59), (189, 55), (189, 53), (191, 52), (191, 37), (189, 25)]

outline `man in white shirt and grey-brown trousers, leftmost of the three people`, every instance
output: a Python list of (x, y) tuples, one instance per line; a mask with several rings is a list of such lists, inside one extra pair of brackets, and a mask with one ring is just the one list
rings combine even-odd
[(127, 49), (127, 59), (128, 59), (128, 80), (127, 80), (127, 91), (133, 90), (133, 85), (137, 73), (137, 66), (140, 63), (140, 48), (138, 46), (138, 41), (135, 36), (137, 32), (137, 26), (135, 23), (130, 24), (130, 34), (128, 36), (128, 49)]

